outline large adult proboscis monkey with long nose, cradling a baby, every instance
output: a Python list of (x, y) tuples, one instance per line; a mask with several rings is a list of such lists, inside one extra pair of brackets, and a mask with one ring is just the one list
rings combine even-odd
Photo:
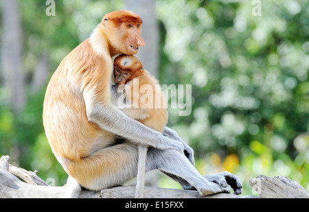
[(60, 62), (47, 86), (43, 124), (52, 151), (69, 174), (66, 196), (78, 197), (80, 185), (98, 191), (134, 178), (138, 144), (150, 146), (146, 171), (159, 169), (183, 189), (208, 195), (229, 192), (229, 184), (241, 193), (240, 180), (229, 172), (201, 176), (192, 148), (174, 130), (152, 130), (113, 105), (113, 58), (137, 54), (144, 45), (141, 23), (130, 11), (106, 14), (90, 38)]

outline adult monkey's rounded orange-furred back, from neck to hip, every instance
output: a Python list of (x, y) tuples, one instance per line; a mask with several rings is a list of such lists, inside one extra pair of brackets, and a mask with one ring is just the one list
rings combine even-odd
[(111, 73), (106, 72), (102, 58), (85, 40), (62, 60), (49, 81), (43, 125), (56, 156), (79, 161), (115, 141), (113, 134), (88, 120), (83, 95), (87, 86), (97, 86), (99, 91), (100, 86), (107, 86), (110, 82), (102, 79), (109, 79), (104, 75)]

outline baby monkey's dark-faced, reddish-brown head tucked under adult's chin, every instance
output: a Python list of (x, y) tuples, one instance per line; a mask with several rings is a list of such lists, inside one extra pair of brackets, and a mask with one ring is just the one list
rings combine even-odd
[(114, 75), (116, 84), (126, 84), (143, 73), (143, 64), (137, 57), (122, 54), (115, 58)]

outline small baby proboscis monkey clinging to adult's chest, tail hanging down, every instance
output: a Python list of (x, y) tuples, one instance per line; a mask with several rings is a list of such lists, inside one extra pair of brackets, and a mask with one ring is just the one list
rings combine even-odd
[[(163, 132), (168, 122), (165, 98), (158, 82), (144, 70), (141, 61), (135, 56), (121, 55), (114, 61), (115, 83), (125, 90), (126, 108), (121, 110), (146, 126)], [(126, 85), (126, 86), (124, 86)], [(143, 88), (144, 86), (144, 88)], [(124, 87), (124, 88), (122, 88)], [(144, 91), (147, 92), (144, 92)], [(136, 198), (144, 196), (144, 178), (148, 148), (138, 146), (139, 163), (137, 168)]]

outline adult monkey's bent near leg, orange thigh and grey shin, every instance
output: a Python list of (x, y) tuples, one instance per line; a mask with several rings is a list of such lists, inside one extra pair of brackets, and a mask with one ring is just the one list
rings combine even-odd
[[(104, 148), (82, 161), (68, 164), (69, 175), (87, 189), (100, 191), (121, 185), (137, 176), (137, 145), (122, 143)], [(152, 169), (179, 176), (195, 187), (202, 195), (229, 193), (227, 187), (209, 182), (201, 176), (184, 154), (176, 150), (150, 148), (146, 160), (146, 172)]]

